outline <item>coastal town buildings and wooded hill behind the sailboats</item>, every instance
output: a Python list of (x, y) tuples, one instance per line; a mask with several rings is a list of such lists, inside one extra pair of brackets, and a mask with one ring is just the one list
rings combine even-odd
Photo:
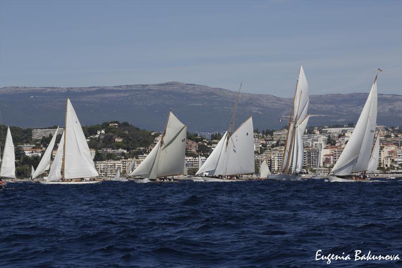
[[(118, 171), (122, 176), (127, 176), (130, 168), (136, 168), (161, 137), (159, 132), (147, 132), (146, 136), (149, 144), (144, 142), (137, 146), (131, 145), (128, 147), (127, 143), (130, 139), (130, 133), (126, 130), (128, 125), (128, 123), (113, 121), (103, 125), (96, 125), (96, 127), (83, 127), (86, 130), (84, 131), (86, 140), (99, 177), (113, 178)], [(352, 123), (343, 126), (308, 127), (303, 135), (304, 168), (302, 174), (328, 174), (341, 155), (353, 130), (354, 125)], [(46, 142), (42, 145), (43, 140), (49, 139), (54, 135), (55, 131), (56, 128), (32, 129), (31, 142), (19, 144), (17, 147), (23, 151), (25, 157), (40, 159), (46, 149), (46, 146), (44, 146)], [(62, 131), (63, 129), (59, 128), (59, 133)], [(400, 127), (377, 126), (376, 132), (378, 133), (380, 151), (378, 170), (373, 175), (375, 173), (402, 173), (402, 148), (400, 147), (402, 129)], [(120, 136), (117, 133), (120, 133)], [(217, 146), (222, 134), (223, 132), (187, 133), (186, 170), (183, 170), (183, 173), (187, 172), (188, 175), (194, 175), (199, 169), (199, 163), (206, 161), (209, 154)], [(255, 173), (258, 173), (260, 163), (264, 159), (267, 161), (272, 173), (280, 172), (286, 136), (286, 129), (254, 130)], [(110, 142), (108, 143), (107, 141)], [(104, 146), (99, 146), (99, 144)], [(108, 145), (110, 147), (107, 147)], [(53, 157), (56, 151), (57, 146), (53, 150)], [(20, 173), (19, 175), (23, 174)], [(45, 172), (43, 176), (46, 175), (47, 173)], [(29, 176), (29, 174), (27, 173), (25, 176)]]

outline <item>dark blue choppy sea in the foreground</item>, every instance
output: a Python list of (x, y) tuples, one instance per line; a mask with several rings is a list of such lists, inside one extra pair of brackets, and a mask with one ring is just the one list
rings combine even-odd
[[(401, 267), (402, 181), (13, 183), (5, 267)], [(350, 254), (352, 260), (316, 260)]]

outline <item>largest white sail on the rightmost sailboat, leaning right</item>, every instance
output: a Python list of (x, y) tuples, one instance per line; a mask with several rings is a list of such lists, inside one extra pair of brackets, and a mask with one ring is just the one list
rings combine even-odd
[(377, 121), (377, 78), (360, 114), (356, 127), (341, 156), (332, 168), (334, 175), (367, 170)]

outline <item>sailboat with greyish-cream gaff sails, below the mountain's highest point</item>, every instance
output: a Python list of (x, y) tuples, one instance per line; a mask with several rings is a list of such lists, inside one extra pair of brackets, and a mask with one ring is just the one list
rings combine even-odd
[(186, 136), (187, 127), (169, 111), (161, 139), (130, 176), (158, 181), (161, 177), (183, 174)]

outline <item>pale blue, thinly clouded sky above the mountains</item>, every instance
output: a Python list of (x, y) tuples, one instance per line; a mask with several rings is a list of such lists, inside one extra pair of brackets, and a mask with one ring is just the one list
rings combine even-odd
[(4, 1), (0, 86), (402, 94), (402, 1)]

